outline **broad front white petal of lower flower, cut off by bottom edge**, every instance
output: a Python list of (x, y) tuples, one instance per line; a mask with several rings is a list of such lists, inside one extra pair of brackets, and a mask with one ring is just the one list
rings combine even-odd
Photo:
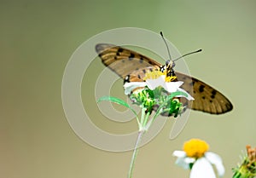
[(216, 176), (207, 158), (199, 158), (195, 161), (189, 178), (216, 178)]

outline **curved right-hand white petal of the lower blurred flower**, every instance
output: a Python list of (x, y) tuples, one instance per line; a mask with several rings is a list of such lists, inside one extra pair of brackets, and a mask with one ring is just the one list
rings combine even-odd
[(224, 168), (224, 165), (222, 163), (222, 159), (220, 158), (220, 156), (218, 156), (218, 154), (216, 154), (214, 152), (206, 152), (205, 157), (208, 159), (208, 161), (211, 164), (215, 165), (217, 172), (218, 172), (218, 176), (220, 176), (220, 177), (224, 176), (225, 168)]

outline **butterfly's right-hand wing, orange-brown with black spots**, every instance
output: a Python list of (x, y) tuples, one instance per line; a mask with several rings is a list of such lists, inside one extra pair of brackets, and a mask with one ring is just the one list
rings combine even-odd
[(218, 92), (218, 90), (213, 89), (207, 83), (180, 72), (175, 72), (175, 74), (177, 76), (177, 80), (184, 82), (181, 88), (188, 91), (189, 94), (195, 98), (193, 101), (183, 101), (185, 102), (184, 105), (187, 105), (193, 110), (212, 114), (230, 112), (233, 109), (230, 100)]

